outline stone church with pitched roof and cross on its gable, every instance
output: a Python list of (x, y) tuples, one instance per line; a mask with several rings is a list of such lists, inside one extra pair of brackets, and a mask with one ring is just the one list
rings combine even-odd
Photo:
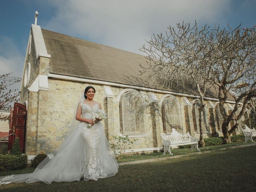
[[(127, 135), (138, 139), (134, 152), (152, 152), (162, 150), (160, 134), (170, 134), (172, 128), (199, 137), (199, 96), (186, 89), (150, 86), (140, 76), (139, 64), (144, 63), (142, 55), (42, 29), (35, 18), (20, 90), (20, 106), (26, 111), (24, 153), (32, 159), (61, 144), (72, 130), (77, 104), (89, 85), (108, 115), (102, 122), (108, 140)], [(218, 95), (209, 90), (205, 100), (204, 138), (222, 136)], [(226, 110), (233, 105), (230, 98)], [(238, 123), (234, 134), (241, 131)]]

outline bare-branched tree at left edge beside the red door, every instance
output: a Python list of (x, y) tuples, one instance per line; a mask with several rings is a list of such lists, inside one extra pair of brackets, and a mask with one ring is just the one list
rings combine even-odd
[[(18, 101), (20, 92), (17, 89), (10, 89), (10, 87), (20, 82), (20, 78), (11, 77), (10, 73), (0, 75), (0, 110), (9, 111), (11, 104)], [(0, 120), (7, 120), (8, 115), (0, 113)]]

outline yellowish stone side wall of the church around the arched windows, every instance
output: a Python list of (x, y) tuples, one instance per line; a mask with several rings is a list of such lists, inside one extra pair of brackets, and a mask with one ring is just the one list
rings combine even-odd
[[(28, 106), (28, 129), (26, 140), (27, 154), (49, 154), (56, 149), (64, 138), (74, 127), (71, 127), (74, 118), (74, 112), (84, 88), (89, 84), (82, 82), (73, 82), (67, 80), (48, 79), (49, 90), (40, 90), (39, 92), (29, 92)], [(103, 123), (105, 133), (109, 139), (113, 135), (120, 134), (120, 109), (119, 102), (122, 94), (130, 89), (111, 87), (113, 97), (104, 98), (104, 86), (90, 84), (96, 89), (95, 100), (100, 102), (102, 109), (108, 114), (108, 120)], [(163, 133), (161, 101), (166, 94), (154, 93), (157, 101), (149, 101), (150, 92), (139, 91), (145, 101), (146, 106), (146, 134), (132, 136), (138, 138), (134, 149), (156, 149), (162, 147), (160, 134)], [(192, 120), (192, 104), (184, 102), (184, 98), (176, 96), (181, 106), (183, 133), (190, 132), (194, 134)], [(188, 98), (188, 102), (193, 99)], [(213, 102), (215, 105), (216, 102)], [(210, 106), (207, 106), (210, 108)], [(210, 133), (205, 137), (211, 136), (216, 129), (215, 109), (208, 109), (208, 120)]]

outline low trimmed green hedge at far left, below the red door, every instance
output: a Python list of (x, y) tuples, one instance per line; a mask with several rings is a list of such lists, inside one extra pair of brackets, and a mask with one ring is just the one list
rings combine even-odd
[(28, 156), (0, 154), (0, 171), (26, 168)]

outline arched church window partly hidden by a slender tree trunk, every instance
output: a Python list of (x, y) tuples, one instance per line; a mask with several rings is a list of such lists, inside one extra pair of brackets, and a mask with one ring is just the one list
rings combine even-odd
[[(193, 116), (194, 131), (196, 133), (200, 133), (199, 107), (200, 107), (200, 101), (194, 102), (194, 104), (192, 106), (192, 116)], [(208, 110), (207, 110), (206, 106), (204, 106), (204, 109), (202, 111), (202, 129), (203, 129), (204, 133), (210, 132), (210, 127), (208, 125)]]

